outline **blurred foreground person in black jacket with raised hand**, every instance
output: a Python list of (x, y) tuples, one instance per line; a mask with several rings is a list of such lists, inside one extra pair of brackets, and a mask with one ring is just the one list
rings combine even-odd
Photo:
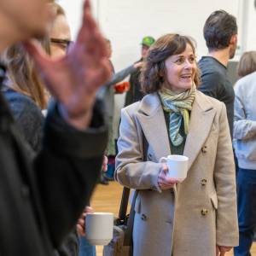
[[(55, 97), (45, 120), (43, 148), (34, 156), (0, 93), (0, 255), (4, 256), (54, 255), (89, 202), (107, 145), (108, 130), (95, 98), (109, 79), (110, 68), (90, 1), (84, 3), (76, 43), (57, 60), (28, 41), (47, 32), (51, 13), (46, 3), (0, 1), (0, 53), (25, 42)], [(0, 84), (4, 79), (5, 67), (0, 65)]]

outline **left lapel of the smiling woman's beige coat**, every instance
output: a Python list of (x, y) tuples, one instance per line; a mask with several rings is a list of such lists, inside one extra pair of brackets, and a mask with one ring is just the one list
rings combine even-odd
[(156, 93), (143, 97), (137, 119), (142, 126), (148, 145), (154, 151), (155, 158), (160, 160), (162, 156), (171, 154), (166, 119)]

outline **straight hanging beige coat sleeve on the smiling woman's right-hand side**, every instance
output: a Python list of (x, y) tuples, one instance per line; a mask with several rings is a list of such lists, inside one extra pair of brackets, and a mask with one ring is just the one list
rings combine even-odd
[(236, 172), (224, 103), (218, 122), (218, 148), (214, 168), (214, 183), (218, 196), (216, 243), (218, 246), (234, 247), (238, 245)]

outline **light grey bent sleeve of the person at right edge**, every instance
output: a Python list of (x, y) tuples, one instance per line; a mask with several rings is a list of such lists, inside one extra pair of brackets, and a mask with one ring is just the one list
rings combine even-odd
[(241, 88), (236, 88), (235, 115), (234, 115), (234, 138), (247, 140), (255, 137), (256, 122), (247, 119), (245, 100), (241, 93)]

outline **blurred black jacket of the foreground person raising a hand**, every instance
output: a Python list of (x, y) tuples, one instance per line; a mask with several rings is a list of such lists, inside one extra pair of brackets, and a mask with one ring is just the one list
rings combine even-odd
[(90, 128), (77, 131), (61, 119), (55, 103), (35, 157), (0, 94), (1, 256), (54, 255), (90, 200), (107, 133), (98, 109)]

